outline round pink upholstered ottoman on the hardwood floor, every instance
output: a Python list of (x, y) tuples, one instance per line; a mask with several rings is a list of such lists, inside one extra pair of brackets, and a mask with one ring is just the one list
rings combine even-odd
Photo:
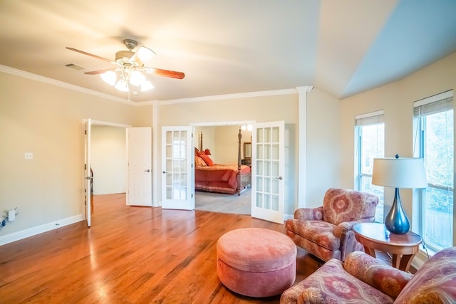
[(269, 229), (229, 231), (217, 241), (217, 276), (241, 295), (279, 295), (296, 279), (296, 245)]

